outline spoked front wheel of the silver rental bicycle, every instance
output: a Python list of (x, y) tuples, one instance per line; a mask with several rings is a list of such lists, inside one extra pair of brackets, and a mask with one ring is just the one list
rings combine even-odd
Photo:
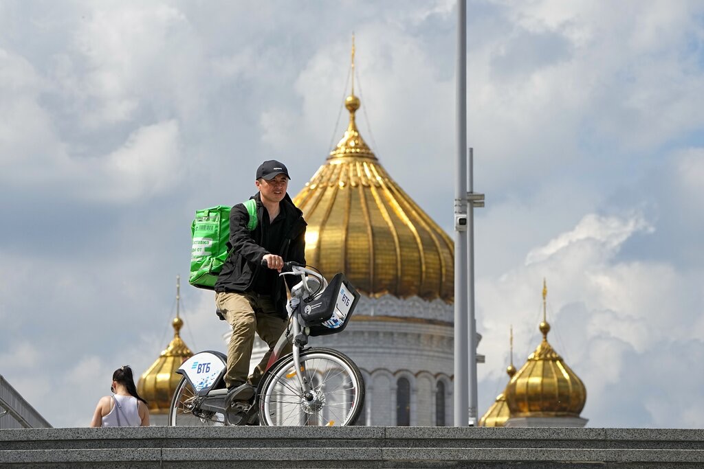
[(259, 394), (261, 425), (354, 425), (364, 406), (364, 379), (348, 356), (333, 349), (301, 352), (301, 374), (311, 383), (308, 395), (296, 378), (293, 355), (265, 376)]

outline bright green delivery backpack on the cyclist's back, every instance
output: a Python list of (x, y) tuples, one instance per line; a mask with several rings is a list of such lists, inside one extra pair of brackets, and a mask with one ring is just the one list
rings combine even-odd
[[(257, 227), (257, 205), (254, 199), (244, 203), (249, 213), (247, 229)], [(217, 207), (196, 210), (191, 224), (193, 247), (191, 248), (191, 274), (188, 283), (198, 288), (213, 290), (222, 264), (230, 255), (227, 241), (230, 240), (230, 210), (232, 207)]]

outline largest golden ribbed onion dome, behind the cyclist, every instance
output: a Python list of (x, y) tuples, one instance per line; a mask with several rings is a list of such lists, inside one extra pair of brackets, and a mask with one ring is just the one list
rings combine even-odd
[(344, 272), (371, 297), (454, 295), (454, 245), (401, 187), (360, 136), (360, 100), (346, 98), (350, 121), (327, 161), (296, 195), (308, 223), (306, 262), (325, 276)]

